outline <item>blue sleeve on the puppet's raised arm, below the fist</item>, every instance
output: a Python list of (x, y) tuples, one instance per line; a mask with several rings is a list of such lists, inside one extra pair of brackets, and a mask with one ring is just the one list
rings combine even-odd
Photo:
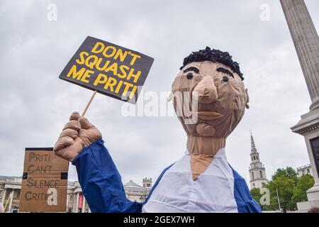
[(103, 140), (84, 148), (72, 164), (77, 167), (79, 184), (92, 212), (142, 211), (142, 204), (126, 198), (121, 175)]

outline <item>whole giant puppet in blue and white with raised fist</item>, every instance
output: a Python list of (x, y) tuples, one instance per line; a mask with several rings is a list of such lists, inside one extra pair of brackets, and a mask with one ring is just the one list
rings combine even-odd
[[(100, 131), (77, 112), (55, 143), (55, 154), (77, 167), (92, 212), (261, 212), (225, 155), (226, 138), (249, 108), (243, 79), (228, 52), (206, 48), (184, 59), (169, 99), (186, 131), (186, 152), (162, 171), (143, 203), (126, 198)], [(185, 103), (196, 103), (196, 121), (180, 111)]]

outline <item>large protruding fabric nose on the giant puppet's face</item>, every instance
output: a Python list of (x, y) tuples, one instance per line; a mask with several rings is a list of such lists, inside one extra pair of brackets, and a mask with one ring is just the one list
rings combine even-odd
[(197, 93), (198, 102), (202, 104), (211, 104), (218, 99), (217, 88), (213, 77), (210, 76), (203, 77), (201, 82), (196, 85), (194, 92)]

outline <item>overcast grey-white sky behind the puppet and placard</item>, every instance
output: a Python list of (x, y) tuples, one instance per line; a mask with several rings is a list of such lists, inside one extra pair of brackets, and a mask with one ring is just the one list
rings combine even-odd
[[(279, 1), (168, 2), (0, 1), (0, 175), (21, 176), (24, 148), (52, 147), (69, 114), (84, 109), (92, 92), (58, 76), (87, 35), (154, 57), (145, 93), (169, 91), (191, 51), (230, 52), (251, 106), (228, 138), (230, 164), (248, 179), (250, 129), (268, 178), (279, 167), (309, 163), (303, 137), (290, 127), (308, 112), (310, 97)], [(56, 21), (47, 19), (50, 4)], [(319, 1), (306, 4), (319, 30)], [(157, 179), (184, 154), (184, 130), (174, 116), (125, 117), (122, 108), (98, 94), (86, 117), (101, 130), (123, 182)], [(77, 179), (73, 166), (69, 179)]]

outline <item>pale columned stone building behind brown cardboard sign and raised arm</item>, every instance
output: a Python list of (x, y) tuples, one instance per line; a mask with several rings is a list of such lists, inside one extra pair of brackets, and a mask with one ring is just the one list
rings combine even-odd
[[(19, 211), (21, 177), (0, 176), (0, 203), (4, 206), (6, 213)], [(132, 180), (124, 184), (125, 194), (131, 201), (143, 202), (152, 188), (152, 178), (142, 179), (142, 186)], [(89, 205), (82, 193), (79, 182), (68, 182), (67, 184), (67, 213), (89, 213)]]

